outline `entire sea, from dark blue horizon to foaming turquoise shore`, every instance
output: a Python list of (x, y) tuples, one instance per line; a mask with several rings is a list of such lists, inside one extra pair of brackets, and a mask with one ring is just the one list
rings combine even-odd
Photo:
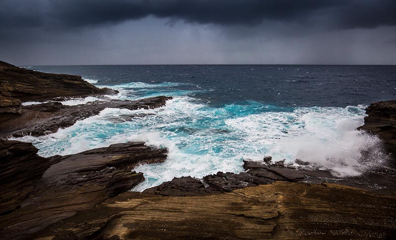
[[(139, 166), (144, 190), (174, 177), (243, 171), (243, 159), (309, 161), (335, 176), (383, 164), (381, 141), (357, 131), (365, 108), (396, 98), (396, 66), (89, 65), (25, 66), (81, 75), (119, 90), (112, 99), (172, 96), (165, 107), (105, 109), (98, 116), (31, 141), (42, 156), (67, 155), (127, 141), (169, 149), (164, 163)], [(67, 105), (101, 100), (70, 99)], [(35, 103), (25, 103), (35, 104)], [(136, 113), (144, 117), (129, 118)], [(367, 154), (366, 150), (370, 150)], [(363, 153), (365, 154), (362, 154)]]

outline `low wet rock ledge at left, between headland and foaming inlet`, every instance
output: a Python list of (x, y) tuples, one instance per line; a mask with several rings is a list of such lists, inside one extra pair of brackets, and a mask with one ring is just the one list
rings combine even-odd
[(22, 106), (20, 115), (0, 121), (0, 138), (46, 135), (59, 128), (72, 126), (78, 120), (98, 115), (105, 108), (153, 109), (164, 106), (166, 100), (171, 98), (159, 96), (135, 101), (95, 101), (76, 106), (65, 106), (58, 102)]

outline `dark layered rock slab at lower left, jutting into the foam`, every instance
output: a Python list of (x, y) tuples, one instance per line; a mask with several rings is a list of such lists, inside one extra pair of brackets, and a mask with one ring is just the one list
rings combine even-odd
[(143, 142), (113, 144), (68, 156), (39, 157), (31, 143), (0, 141), (0, 239), (19, 239), (130, 190), (131, 171), (160, 163), (166, 150)]

